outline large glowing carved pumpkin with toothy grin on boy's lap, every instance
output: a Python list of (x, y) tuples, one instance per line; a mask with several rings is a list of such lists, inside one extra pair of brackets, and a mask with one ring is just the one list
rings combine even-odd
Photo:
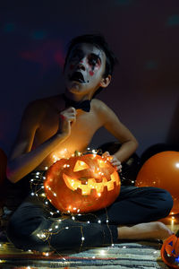
[(107, 158), (86, 154), (56, 161), (44, 182), (47, 198), (64, 213), (89, 213), (115, 202), (121, 182)]

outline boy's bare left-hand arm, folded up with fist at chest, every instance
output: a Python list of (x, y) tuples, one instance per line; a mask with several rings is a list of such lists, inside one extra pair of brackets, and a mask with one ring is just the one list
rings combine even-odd
[[(39, 106), (39, 103), (33, 102), (26, 108), (13, 151), (8, 158), (6, 176), (13, 183), (25, 177), (33, 169), (36, 169), (47, 155), (55, 149), (55, 146), (62, 143), (70, 135), (70, 123), (74, 121), (72, 116), (74, 108), (70, 116), (67, 113), (67, 116), (63, 117), (63, 122), (61, 120), (61, 127), (57, 133), (31, 151), (38, 124), (43, 117), (44, 110), (40, 109), (42, 112), (39, 112)], [(68, 108), (68, 110), (70, 109), (72, 108)]]

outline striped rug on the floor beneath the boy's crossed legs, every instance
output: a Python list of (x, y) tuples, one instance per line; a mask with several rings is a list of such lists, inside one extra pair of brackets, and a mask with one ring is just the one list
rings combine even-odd
[[(179, 230), (179, 214), (159, 220), (176, 232)], [(169, 268), (160, 256), (161, 242), (122, 242), (112, 248), (94, 248), (83, 253), (63, 256), (34, 256), (7, 242), (0, 242), (0, 268)], [(66, 266), (65, 266), (66, 265)], [(178, 267), (179, 268), (179, 267)]]

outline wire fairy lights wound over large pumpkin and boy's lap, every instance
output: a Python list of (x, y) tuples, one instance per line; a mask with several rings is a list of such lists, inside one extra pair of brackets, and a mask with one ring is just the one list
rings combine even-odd
[[(99, 151), (96, 151), (96, 150), (90, 151), (90, 148), (88, 148), (87, 152), (83, 152), (83, 153), (75, 152), (75, 155), (78, 154), (77, 156), (81, 156), (81, 155), (92, 153), (93, 157), (96, 158), (98, 152)], [(103, 156), (101, 156), (101, 157), (104, 158)], [(59, 161), (59, 157), (53, 155), (53, 160), (54, 160), (54, 162)], [(107, 163), (107, 161), (110, 161), (110, 156), (105, 157), (104, 162)], [(70, 167), (70, 165), (69, 164), (64, 164), (64, 167)], [(79, 208), (77, 208), (77, 207), (72, 207), (72, 205), (68, 206), (68, 212), (67, 213), (60, 213), (59, 210), (56, 210), (56, 208), (51, 204), (51, 200), (49, 198), (47, 198), (46, 192), (44, 190), (44, 181), (47, 179), (46, 178), (47, 169), (48, 169), (48, 167), (46, 166), (45, 171), (43, 171), (43, 172), (36, 171), (33, 174), (33, 178), (30, 179), (30, 187), (31, 187), (31, 195), (32, 196), (36, 195), (38, 197), (38, 199), (43, 202), (44, 208), (52, 216), (52, 218), (55, 216), (55, 221), (53, 222), (53, 224), (47, 230), (40, 230), (40, 231), (38, 230), (38, 232), (36, 234), (38, 239), (41, 239), (43, 241), (47, 241), (49, 246), (52, 247), (50, 245), (51, 237), (56, 235), (57, 233), (61, 232), (61, 230), (64, 230), (64, 229), (69, 230), (71, 228), (69, 226), (65, 226), (65, 227), (62, 226), (61, 227), (60, 223), (63, 223), (63, 221), (66, 218), (69, 218), (69, 217), (71, 217), (72, 221), (74, 221), (74, 222), (76, 221), (77, 223), (79, 223), (78, 219), (76, 220), (75, 215), (77, 215), (77, 216), (85, 215), (86, 217), (88, 217), (88, 214), (81, 214), (81, 210)], [(99, 176), (104, 176), (104, 174), (100, 170), (98, 170), (98, 174), (99, 174)], [(51, 190), (51, 188), (48, 187), (48, 190)], [(53, 192), (53, 195), (56, 196), (56, 193)], [(98, 193), (98, 195), (100, 196), (101, 194)], [(72, 213), (72, 210), (75, 211), (75, 213)], [(106, 209), (106, 212), (107, 212), (107, 209)], [(58, 219), (56, 218), (56, 214), (57, 214)], [(98, 219), (98, 217), (95, 215), (95, 213), (90, 213), (89, 215), (92, 215), (93, 217), (95, 217), (98, 224), (102, 224), (101, 220)], [(85, 222), (87, 224), (91, 223), (90, 219), (88, 220), (88, 218), (86, 218)], [(112, 232), (111, 232), (111, 230), (110, 230), (110, 228), (108, 226), (108, 222), (109, 222), (108, 216), (107, 216), (106, 222), (107, 222), (108, 230), (110, 231), (110, 234), (111, 234), (111, 247), (114, 247)], [(80, 229), (81, 229), (81, 246), (80, 246), (80, 251), (81, 251), (81, 247), (83, 246), (83, 243), (85, 241), (85, 237), (84, 237), (84, 234), (83, 234), (82, 226), (80, 226)], [(55, 252), (57, 252), (57, 251), (55, 250)], [(44, 255), (49, 256), (49, 252), (44, 253)], [(106, 255), (106, 251), (101, 250), (100, 255), (102, 255), (102, 256)], [(95, 256), (93, 256), (92, 258), (95, 258)]]

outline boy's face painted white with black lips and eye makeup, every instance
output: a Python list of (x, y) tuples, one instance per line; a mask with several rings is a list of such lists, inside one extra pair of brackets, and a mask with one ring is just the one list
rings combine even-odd
[(66, 90), (81, 96), (91, 96), (103, 87), (106, 68), (104, 51), (89, 43), (75, 45), (64, 68)]

